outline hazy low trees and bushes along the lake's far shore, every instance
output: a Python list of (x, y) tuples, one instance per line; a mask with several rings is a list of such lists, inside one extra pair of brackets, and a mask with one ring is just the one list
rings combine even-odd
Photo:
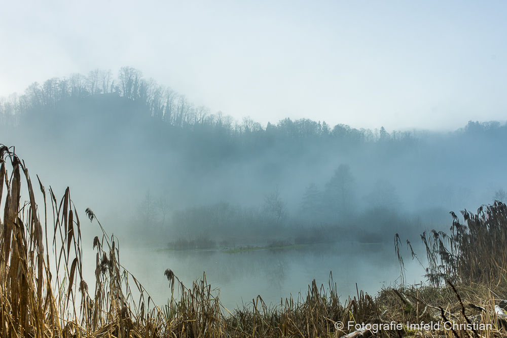
[[(415, 221), (413, 215), (400, 211), (399, 197), (392, 183), (379, 179), (371, 193), (363, 197), (368, 204), (364, 208), (358, 203), (355, 181), (350, 167), (342, 164), (323, 191), (319, 191), (314, 183), (306, 188), (300, 207), (293, 214), (287, 209), (281, 187), (276, 185), (264, 194), (258, 206), (231, 205), (222, 201), (174, 210), (168, 228), (162, 226), (165, 216), (162, 217), (160, 208), (163, 204), (153, 198), (150, 200), (148, 193), (139, 205), (142, 212), (138, 214), (141, 219), (152, 218), (148, 222), (135, 221), (143, 224), (142, 229), (162, 226), (162, 233), (171, 229), (173, 238), (179, 240), (211, 238), (227, 245), (245, 240), (262, 242), (280, 238), (296, 244), (344, 239), (379, 242), (391, 240), (392, 231), (411, 233), (420, 226), (420, 221)], [(152, 208), (146, 207), (148, 204)], [(158, 218), (154, 217), (157, 214)]]

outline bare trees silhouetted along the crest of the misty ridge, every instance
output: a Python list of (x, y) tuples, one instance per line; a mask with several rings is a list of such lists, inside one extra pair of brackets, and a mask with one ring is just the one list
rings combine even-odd
[(72, 73), (68, 77), (51, 78), (42, 85), (34, 82), (23, 95), (16, 93), (0, 97), (0, 126), (19, 125), (24, 114), (32, 110), (50, 110), (65, 100), (78, 100), (94, 95), (118, 96), (141, 102), (147, 107), (151, 118), (168, 126), (200, 130), (211, 128), (228, 136), (246, 135), (249, 137), (284, 137), (290, 139), (329, 138), (353, 143), (411, 141), (415, 132), (380, 129), (355, 129), (338, 124), (334, 127), (325, 121), (310, 119), (283, 119), (276, 124), (268, 122), (266, 127), (245, 117), (235, 120), (221, 111), (210, 114), (204, 105), (195, 105), (186, 95), (179, 94), (170, 87), (158, 84), (154, 79), (144, 79), (142, 71), (133, 67), (122, 67), (115, 77), (111, 69), (95, 69), (84, 76)]

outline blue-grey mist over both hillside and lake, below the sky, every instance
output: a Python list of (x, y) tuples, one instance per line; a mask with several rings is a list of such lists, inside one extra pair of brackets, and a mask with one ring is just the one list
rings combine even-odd
[[(447, 230), (449, 211), (506, 199), (503, 122), (448, 132), (263, 126), (211, 114), (136, 71), (122, 68), (120, 83), (139, 77), (122, 86), (76, 87), (73, 74), (3, 99), (0, 142), (56, 194), (69, 186), (78, 213), (95, 212), (162, 303), (167, 268), (186, 285), (206, 272), (229, 307), (327, 285), (330, 271), (344, 296), (356, 282), (375, 293), (400, 276), (396, 233), (415, 245), (427, 229)], [(82, 224), (91, 248), (99, 231)], [(424, 279), (414, 261), (406, 267)]]

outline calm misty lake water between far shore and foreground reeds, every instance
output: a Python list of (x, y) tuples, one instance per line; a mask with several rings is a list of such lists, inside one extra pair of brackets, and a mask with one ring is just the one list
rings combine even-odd
[[(423, 246), (414, 246), (425, 264)], [(87, 250), (86, 250), (87, 251)], [(420, 283), (424, 269), (410, 252), (401, 250), (405, 259), (408, 283)], [(85, 263), (94, 262), (91, 252)], [(424, 258), (424, 259), (423, 259)], [(223, 249), (196, 251), (156, 251), (146, 248), (120, 248), (120, 263), (148, 290), (159, 306), (167, 304), (170, 287), (164, 271), (169, 268), (185, 286), (202, 278), (219, 289), (221, 303), (231, 312), (261, 295), (266, 304), (280, 304), (291, 294), (297, 299), (315, 279), (328, 287), (330, 271), (342, 303), (359, 290), (375, 295), (382, 287), (400, 283), (400, 264), (392, 243), (361, 244), (355, 242), (313, 244), (289, 249), (262, 249), (229, 253)], [(94, 265), (87, 264), (85, 280), (94, 285)], [(90, 283), (92, 282), (92, 283)], [(135, 289), (132, 283), (131, 287)], [(93, 289), (93, 287), (92, 287)], [(90, 290), (91, 291), (91, 290)]]

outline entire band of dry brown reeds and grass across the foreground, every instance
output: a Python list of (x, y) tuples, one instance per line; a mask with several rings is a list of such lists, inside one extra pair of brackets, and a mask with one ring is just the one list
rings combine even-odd
[[(38, 183), (43, 208), (35, 202), (24, 162), (0, 144), (0, 201), (4, 206), (4, 213), (0, 214), (2, 338), (507, 336), (504, 328), (507, 321), (494, 312), (499, 299), (507, 294), (507, 282), (493, 283), (499, 280), (498, 276), (505, 276), (504, 253), (500, 249), (494, 251), (488, 265), (484, 262), (487, 257), (474, 257), (475, 246), (496, 246), (491, 236), (504, 234), (501, 228), (505, 224), (504, 205), (496, 204), (493, 208), (497, 209), (487, 209), (478, 217), (468, 214), (467, 229), (454, 224), (454, 229), (459, 228), (459, 232), (456, 230), (459, 236), (453, 235), (454, 242), (447, 243), (454, 246), (449, 249), (443, 241), (442, 245), (454, 255), (449, 262), (454, 259), (458, 268), (445, 270), (437, 266), (440, 270), (433, 271), (445, 274), (441, 279), (448, 277), (449, 283), (445, 285), (388, 288), (375, 297), (357, 290), (355, 297), (341, 302), (330, 274), (329, 285), (319, 286), (313, 281), (306, 294), (299, 294), (297, 299), (291, 296), (280, 299), (279, 305), (268, 306), (258, 296), (242, 309), (229, 310), (221, 305), (205, 274), (187, 287), (167, 269), (168, 303), (159, 307), (120, 264), (117, 238), (107, 235), (90, 209), (86, 210), (86, 216), (98, 222), (101, 234), (93, 241), (95, 280), (84, 281), (81, 223), (70, 191), (67, 188), (63, 197), (57, 199), (51, 187), (45, 189), (39, 179)], [(23, 204), (21, 191), (27, 191), (28, 196)], [(484, 234), (481, 227), (491, 233)], [(470, 237), (472, 234), (485, 237), (478, 242)], [(441, 239), (442, 235), (439, 236)], [(440, 242), (434, 244), (434, 240), (433, 236), (428, 247), (436, 245), (442, 249)], [(444, 251), (436, 251), (435, 257), (441, 259), (441, 252)], [(475, 252), (487, 255), (491, 251), (481, 247)], [(482, 274), (486, 272), (488, 275), (484, 277)], [(450, 283), (451, 278), (454, 284)], [(491, 328), (452, 331), (407, 326), (421, 321), (443, 322), (445, 318), (460, 323), (491, 324)], [(356, 331), (354, 325), (363, 323), (370, 326), (395, 323), (401, 328), (393, 328), (391, 324), (377, 331)]]

